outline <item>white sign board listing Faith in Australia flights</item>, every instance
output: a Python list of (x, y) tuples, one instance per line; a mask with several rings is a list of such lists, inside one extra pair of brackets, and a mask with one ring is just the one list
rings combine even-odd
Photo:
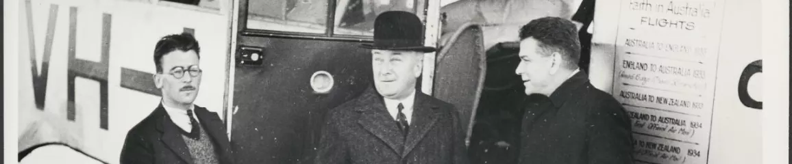
[(623, 0), (613, 95), (630, 115), (634, 158), (706, 163), (722, 0)]

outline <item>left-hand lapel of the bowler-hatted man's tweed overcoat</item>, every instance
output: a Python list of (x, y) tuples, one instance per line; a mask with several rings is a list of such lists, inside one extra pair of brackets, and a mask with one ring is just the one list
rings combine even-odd
[(366, 91), (364, 99), (360, 99), (360, 118), (357, 123), (368, 132), (383, 140), (396, 154), (404, 149), (404, 136), (396, 126), (396, 121), (387, 113), (383, 100), (373, 89)]

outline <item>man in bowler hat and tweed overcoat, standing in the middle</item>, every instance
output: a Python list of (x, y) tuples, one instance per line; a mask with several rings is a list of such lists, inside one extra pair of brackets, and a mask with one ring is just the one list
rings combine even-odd
[(417, 91), (423, 25), (413, 13), (389, 11), (374, 23), (374, 87), (329, 110), (315, 163), (467, 163), (454, 106)]

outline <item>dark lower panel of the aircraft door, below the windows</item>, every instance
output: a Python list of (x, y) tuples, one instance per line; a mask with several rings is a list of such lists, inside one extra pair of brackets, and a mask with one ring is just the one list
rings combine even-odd
[[(239, 163), (305, 163), (318, 145), (327, 110), (371, 85), (371, 56), (360, 43), (240, 36), (263, 47), (261, 65), (237, 64), (231, 140)], [(316, 93), (310, 77), (326, 71), (333, 88)]]

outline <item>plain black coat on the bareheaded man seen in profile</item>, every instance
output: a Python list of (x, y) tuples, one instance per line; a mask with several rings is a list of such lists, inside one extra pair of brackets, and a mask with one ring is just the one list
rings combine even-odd
[(520, 132), (520, 163), (632, 163), (630, 118), (583, 71), (553, 94), (531, 95)]

